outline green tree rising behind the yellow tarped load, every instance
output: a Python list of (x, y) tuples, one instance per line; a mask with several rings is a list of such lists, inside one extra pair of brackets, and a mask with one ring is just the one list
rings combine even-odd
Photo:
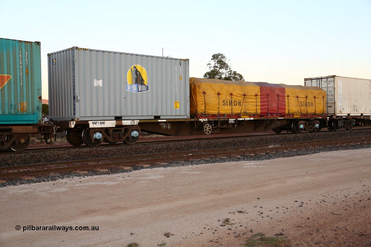
[(211, 56), (210, 62), (207, 64), (210, 71), (204, 74), (204, 78), (220, 79), (220, 80), (244, 80), (240, 73), (232, 70), (228, 64), (230, 60), (222, 53), (217, 53)]

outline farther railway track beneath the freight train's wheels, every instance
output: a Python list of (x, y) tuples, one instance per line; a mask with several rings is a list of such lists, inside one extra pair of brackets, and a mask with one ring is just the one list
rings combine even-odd
[[(358, 127), (352, 129), (352, 131), (357, 130), (367, 130), (371, 128), (364, 128), (364, 127)], [(341, 129), (339, 131), (347, 131), (346, 129)], [(322, 130), (321, 132), (329, 132), (329, 130)], [(308, 133), (308, 132), (300, 132), (299, 134)], [(262, 134), (243, 134), (243, 135), (211, 135), (211, 136), (183, 136), (183, 137), (177, 137), (177, 136), (169, 136), (169, 137), (160, 137), (156, 140), (146, 140), (143, 138), (142, 140), (137, 141), (133, 145), (141, 145), (141, 144), (154, 144), (154, 143), (168, 143), (168, 142), (184, 142), (184, 141), (194, 141), (194, 140), (217, 140), (217, 139), (226, 139), (226, 138), (244, 138), (244, 137), (255, 137), (255, 136), (270, 136), (270, 135), (291, 135), (291, 132), (288, 133), (262, 133)], [(99, 145), (99, 147), (109, 147), (109, 146), (118, 146), (118, 145), (127, 145), (124, 143), (119, 144), (108, 144), (103, 143)], [(24, 152), (42, 152), (42, 151), (53, 151), (53, 150), (63, 150), (63, 149), (81, 149), (81, 148), (92, 148), (86, 145), (82, 146), (46, 146), (46, 147), (37, 147), (37, 148), (28, 148)], [(13, 151), (6, 151), (6, 152), (0, 152), (0, 154), (12, 154)]]

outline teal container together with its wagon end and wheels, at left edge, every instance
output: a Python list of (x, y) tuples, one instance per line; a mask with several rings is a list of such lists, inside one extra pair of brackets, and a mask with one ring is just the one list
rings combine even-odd
[(0, 150), (23, 151), (42, 122), (40, 42), (0, 38)]

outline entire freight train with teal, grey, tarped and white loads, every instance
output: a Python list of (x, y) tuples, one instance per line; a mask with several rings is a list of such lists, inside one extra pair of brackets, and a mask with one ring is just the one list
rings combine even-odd
[(41, 118), (40, 42), (0, 39), (0, 150), (134, 144), (162, 135), (338, 131), (370, 125), (371, 80), (325, 76), (305, 86), (190, 78), (189, 60), (71, 47), (49, 53), (49, 119)]

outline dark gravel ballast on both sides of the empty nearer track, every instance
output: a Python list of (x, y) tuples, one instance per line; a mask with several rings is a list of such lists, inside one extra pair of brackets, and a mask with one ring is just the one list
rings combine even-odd
[[(371, 135), (371, 130), (355, 130), (352, 131), (339, 131), (339, 132), (320, 132), (320, 133), (301, 133), (301, 134), (290, 134), (290, 135), (272, 135), (272, 136), (257, 136), (257, 137), (245, 137), (245, 138), (231, 138), (231, 139), (220, 139), (220, 140), (193, 140), (186, 142), (173, 142), (164, 144), (142, 144), (142, 145), (120, 145), (111, 147), (96, 147), (96, 148), (82, 148), (82, 149), (70, 149), (70, 150), (55, 150), (45, 151), (38, 153), (14, 153), (14, 154), (1, 154), (0, 155), (0, 166), (7, 165), (24, 165), (32, 163), (43, 163), (51, 161), (67, 161), (76, 159), (88, 159), (88, 158), (110, 158), (124, 155), (138, 155), (138, 154), (149, 154), (158, 152), (169, 152), (169, 151), (192, 151), (198, 149), (208, 149), (210, 146), (213, 148), (227, 148), (234, 146), (247, 146), (252, 144), (278, 144), (283, 142), (295, 142), (295, 141), (307, 141), (315, 139), (326, 139), (326, 138), (339, 138), (339, 137), (350, 137), (350, 136), (364, 136)], [(138, 149), (140, 147), (140, 149)], [(357, 143), (349, 145), (334, 145), (334, 146), (312, 146), (311, 148), (303, 148), (290, 150), (289, 152), (276, 152), (266, 153), (264, 155), (257, 154), (255, 156), (241, 155), (240, 157), (230, 156), (226, 158), (211, 158), (201, 160), (186, 160), (186, 161), (172, 161), (168, 162), (167, 165), (151, 165), (149, 168), (133, 167), (131, 170), (122, 170), (118, 168), (109, 168), (108, 172), (104, 174), (117, 174), (124, 172), (131, 172), (140, 169), (152, 169), (155, 167), (180, 167), (185, 165), (200, 165), (200, 164), (212, 164), (220, 162), (230, 161), (259, 161), (274, 158), (292, 157), (298, 155), (315, 154), (319, 152), (338, 151), (345, 149), (361, 149), (370, 148), (371, 143)], [(23, 180), (22, 178), (15, 178), (7, 180), (6, 183), (0, 184), (0, 187), (7, 187), (12, 185), (20, 184), (32, 184), (36, 182), (56, 181), (63, 178), (69, 177), (83, 177), (101, 175), (102, 172), (89, 170), (88, 174), (75, 174), (72, 172), (62, 173), (58, 176), (42, 175), (36, 176), (33, 180)]]

